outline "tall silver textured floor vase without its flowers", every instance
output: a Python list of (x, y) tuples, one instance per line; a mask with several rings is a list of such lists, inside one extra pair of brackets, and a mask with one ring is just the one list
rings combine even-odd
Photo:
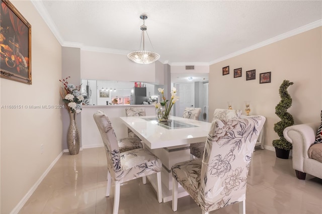
[(79, 133), (76, 124), (76, 113), (69, 113), (70, 124), (67, 134), (68, 150), (71, 155), (77, 155), (79, 152)]

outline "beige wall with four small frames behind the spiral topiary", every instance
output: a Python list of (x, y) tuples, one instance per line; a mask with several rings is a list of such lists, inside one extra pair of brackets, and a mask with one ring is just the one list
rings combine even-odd
[[(288, 110), (295, 124), (319, 122), (322, 109), (322, 49), (318, 27), (265, 47), (218, 62), (210, 66), (209, 115), (217, 108), (226, 109), (227, 101), (233, 109), (245, 114), (245, 100), (251, 100), (251, 115), (266, 117), (265, 145), (273, 149), (278, 139), (273, 126), (280, 119), (275, 106), (280, 101), (279, 86), (284, 79), (294, 82), (288, 88), (293, 104)], [(222, 75), (222, 67), (229, 65), (230, 73)], [(233, 78), (233, 69), (242, 68), (242, 77)], [(256, 80), (246, 81), (246, 71), (256, 69)], [(259, 74), (272, 72), (271, 83), (259, 84)]]

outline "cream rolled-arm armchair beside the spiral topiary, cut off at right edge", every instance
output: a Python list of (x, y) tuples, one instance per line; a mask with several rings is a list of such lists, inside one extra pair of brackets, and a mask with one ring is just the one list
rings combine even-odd
[(285, 139), (293, 144), (293, 169), (298, 179), (304, 180), (306, 173), (322, 179), (322, 163), (309, 158), (308, 155), (308, 150), (315, 141), (319, 124), (300, 124), (284, 129)]

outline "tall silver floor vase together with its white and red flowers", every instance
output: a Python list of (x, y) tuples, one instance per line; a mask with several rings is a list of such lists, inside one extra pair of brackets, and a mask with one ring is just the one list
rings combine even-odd
[(68, 78), (70, 78), (70, 76), (63, 80), (59, 80), (63, 84), (60, 90), (60, 95), (62, 100), (65, 102), (70, 117), (67, 133), (68, 150), (71, 155), (77, 155), (79, 153), (79, 132), (76, 124), (76, 114), (82, 112), (82, 102), (84, 97), (79, 93), (81, 85), (75, 87), (73, 84), (68, 84)]

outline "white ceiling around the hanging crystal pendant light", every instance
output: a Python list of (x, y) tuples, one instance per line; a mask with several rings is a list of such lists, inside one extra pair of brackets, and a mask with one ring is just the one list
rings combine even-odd
[[(214, 62), (315, 23), (322, 1), (33, 1), (62, 46), (127, 54), (140, 46), (140, 14), (159, 61)], [(152, 50), (146, 42), (146, 50)], [(126, 56), (125, 56), (126, 57)]]

